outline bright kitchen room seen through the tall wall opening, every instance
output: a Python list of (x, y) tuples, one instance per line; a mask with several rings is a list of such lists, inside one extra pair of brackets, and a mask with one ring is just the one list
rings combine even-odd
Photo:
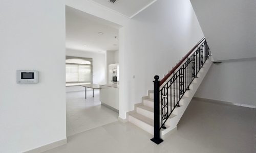
[(66, 7), (67, 136), (118, 120), (118, 25)]

